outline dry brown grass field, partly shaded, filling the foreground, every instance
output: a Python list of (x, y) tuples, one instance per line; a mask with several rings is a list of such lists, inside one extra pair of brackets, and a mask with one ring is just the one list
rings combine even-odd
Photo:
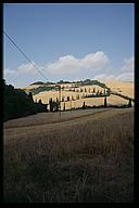
[(5, 203), (134, 200), (134, 108), (81, 112), (4, 123)]

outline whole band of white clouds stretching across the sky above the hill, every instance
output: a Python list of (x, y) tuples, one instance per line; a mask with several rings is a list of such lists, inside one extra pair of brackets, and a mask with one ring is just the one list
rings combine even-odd
[(14, 86), (25, 86), (35, 80), (41, 80), (42, 77), (37, 69), (50, 81), (59, 81), (61, 79), (80, 80), (86, 78), (100, 81), (134, 81), (134, 57), (125, 58), (121, 66), (115, 68), (106, 54), (103, 51), (98, 51), (89, 53), (81, 58), (68, 54), (59, 57), (52, 63), (38, 65), (33, 62), (33, 64), (22, 64), (16, 69), (4, 69), (3, 76), (9, 83), (14, 83)]

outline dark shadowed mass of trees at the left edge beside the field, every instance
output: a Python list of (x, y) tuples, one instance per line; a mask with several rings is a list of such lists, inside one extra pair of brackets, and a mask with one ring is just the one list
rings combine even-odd
[(7, 84), (4, 80), (2, 82), (3, 121), (47, 110), (45, 104), (34, 103), (31, 93), (27, 95), (25, 91), (14, 89), (13, 86)]

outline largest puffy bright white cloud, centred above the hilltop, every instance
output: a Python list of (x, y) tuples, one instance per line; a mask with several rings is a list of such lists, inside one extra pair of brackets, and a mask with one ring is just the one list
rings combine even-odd
[(103, 69), (110, 63), (109, 57), (104, 52), (87, 54), (83, 58), (77, 58), (74, 55), (65, 55), (58, 61), (50, 63), (46, 69), (53, 75), (71, 75), (80, 70), (97, 70)]

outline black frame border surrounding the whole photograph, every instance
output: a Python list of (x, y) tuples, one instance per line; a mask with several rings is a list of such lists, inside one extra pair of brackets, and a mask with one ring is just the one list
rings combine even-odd
[[(43, 0), (40, 0), (40, 1), (35, 1), (35, 0), (21, 0), (21, 1), (17, 1), (17, 0), (13, 0), (13, 1), (9, 1), (9, 0), (4, 0), (2, 1), (1, 3), (1, 6), (0, 6), (0, 14), (1, 14), (1, 28), (3, 28), (3, 3), (135, 3), (134, 0), (115, 0), (115, 1), (110, 1), (110, 0), (105, 0), (105, 1), (102, 1), (102, 0), (87, 0), (85, 2), (78, 2), (77, 0), (61, 0), (60, 2), (59, 1), (55, 1), (55, 0), (48, 0), (48, 1), (43, 1)], [(138, 126), (137, 126), (137, 120), (139, 119), (138, 117), (138, 110), (139, 110), (139, 40), (138, 40), (138, 37), (139, 37), (139, 32), (138, 32), (138, 26), (139, 26), (139, 6), (137, 5), (137, 3), (135, 3), (135, 153), (134, 153), (134, 187), (135, 187), (135, 200), (134, 203), (122, 203), (122, 204), (105, 204), (106, 207), (109, 206), (130, 206), (132, 204), (139, 204), (139, 160), (138, 160), (138, 153), (139, 153), (139, 142), (138, 142), (138, 138), (139, 138), (139, 133), (138, 133)], [(1, 32), (1, 43), (3, 42), (3, 35)], [(3, 65), (2, 65), (2, 60), (3, 60), (3, 44), (2, 44), (2, 50), (1, 50), (1, 80), (2, 80), (2, 72), (3, 72)], [(3, 87), (2, 87), (2, 81), (0, 82), (0, 93), (1, 93), (1, 98), (3, 98)], [(3, 107), (3, 102), (0, 102), (1, 106), (0, 106), (0, 115), (2, 116), (2, 107)], [(2, 121), (2, 118), (3, 116), (1, 117), (1, 121)], [(1, 131), (1, 138), (3, 136), (3, 122), (0, 123), (0, 128), (2, 129)], [(3, 187), (3, 140), (0, 140), (1, 144), (0, 144), (0, 162), (2, 164), (2, 168), (1, 168), (1, 174), (0, 174), (0, 182), (1, 182), (1, 187)], [(14, 188), (14, 187), (13, 187)], [(3, 199), (3, 188), (0, 188), (0, 199)], [(3, 200), (1, 200), (3, 203)], [(8, 204), (7, 204), (8, 205)], [(11, 204), (11, 205), (22, 205), (21, 204)], [(27, 204), (25, 204), (26, 206)], [(43, 206), (46, 204), (29, 204), (29, 206)], [(47, 204), (49, 205), (49, 204)], [(51, 205), (51, 204), (50, 204)], [(53, 206), (54, 204), (52, 204)], [(60, 205), (60, 204), (58, 204)], [(67, 204), (67, 205), (72, 205), (72, 204)], [(80, 206), (81, 203), (78, 203), (76, 204), (76, 206)], [(85, 204), (84, 204), (85, 205)], [(88, 206), (89, 204), (87, 204)], [(100, 203), (100, 204), (93, 204), (94, 206), (103, 206), (103, 203)]]

